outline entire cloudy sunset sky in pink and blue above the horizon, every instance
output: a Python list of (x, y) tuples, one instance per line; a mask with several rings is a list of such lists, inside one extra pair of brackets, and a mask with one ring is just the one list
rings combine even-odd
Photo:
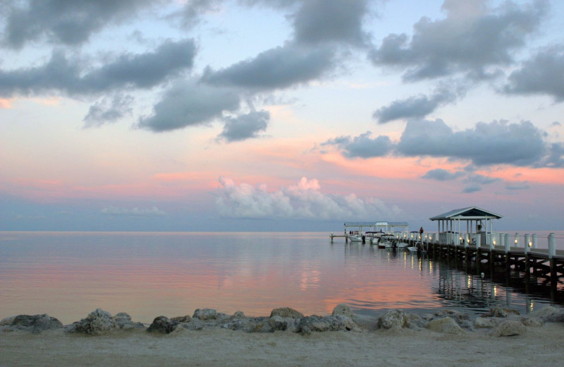
[(0, 0), (0, 230), (562, 230), (562, 14)]

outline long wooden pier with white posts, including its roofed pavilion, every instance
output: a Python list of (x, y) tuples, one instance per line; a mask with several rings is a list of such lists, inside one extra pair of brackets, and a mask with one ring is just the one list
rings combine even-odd
[[(385, 232), (393, 234), (397, 242), (418, 247), (429, 258), (442, 258), (456, 267), (462, 265), (467, 272), (475, 271), (477, 275), (486, 272), (489, 277), (495, 272), (518, 274), (526, 284), (564, 290), (564, 282), (561, 282), (564, 281), (564, 251), (556, 250), (556, 237), (548, 236), (548, 248), (538, 248), (536, 234), (519, 236), (515, 233), (510, 238), (507, 233), (492, 230), (492, 222), (501, 217), (479, 207), (465, 207), (429, 218), (438, 222), (435, 233), (424, 233), (422, 228), (407, 231), (407, 223), (396, 224), (405, 224), (405, 231), (390, 231), (386, 227)], [(373, 223), (372, 226), (387, 222)], [(362, 231), (368, 223), (345, 223), (345, 233), (338, 236), (331, 232), (331, 241), (337, 237), (347, 241), (348, 229), (355, 226)]]

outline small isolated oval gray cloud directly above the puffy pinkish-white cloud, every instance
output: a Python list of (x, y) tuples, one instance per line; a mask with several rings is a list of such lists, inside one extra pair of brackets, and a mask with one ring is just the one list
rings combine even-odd
[(256, 138), (259, 132), (266, 130), (269, 120), (270, 113), (264, 110), (250, 112), (235, 118), (228, 117), (225, 119), (225, 125), (223, 131), (219, 134), (219, 138), (228, 142)]

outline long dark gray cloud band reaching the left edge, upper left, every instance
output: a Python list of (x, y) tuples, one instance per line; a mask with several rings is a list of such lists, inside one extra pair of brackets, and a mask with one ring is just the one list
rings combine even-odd
[(78, 59), (61, 51), (51, 54), (42, 66), (13, 71), (0, 70), (0, 95), (32, 95), (61, 92), (68, 95), (95, 95), (121, 88), (152, 88), (192, 68), (193, 40), (167, 41), (154, 52), (123, 54), (104, 66), (87, 70)]

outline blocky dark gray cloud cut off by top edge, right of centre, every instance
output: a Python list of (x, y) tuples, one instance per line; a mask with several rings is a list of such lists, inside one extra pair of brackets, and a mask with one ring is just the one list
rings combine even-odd
[(308, 0), (293, 15), (295, 41), (301, 44), (342, 42), (362, 45), (367, 35), (362, 18), (367, 15), (367, 0)]

